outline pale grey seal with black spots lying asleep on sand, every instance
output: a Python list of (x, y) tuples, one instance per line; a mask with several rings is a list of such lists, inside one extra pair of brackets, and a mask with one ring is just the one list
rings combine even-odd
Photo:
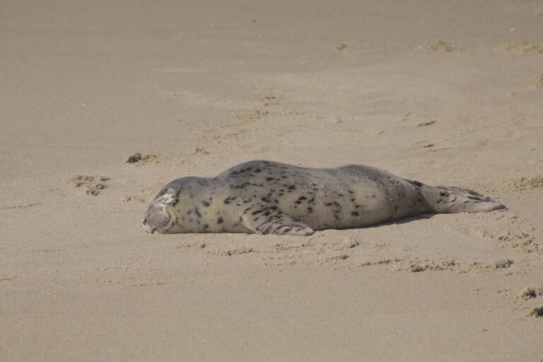
[(506, 206), (461, 187), (433, 187), (364, 165), (303, 168), (267, 160), (216, 177), (183, 177), (148, 207), (148, 233), (311, 235), (419, 214), (479, 212)]

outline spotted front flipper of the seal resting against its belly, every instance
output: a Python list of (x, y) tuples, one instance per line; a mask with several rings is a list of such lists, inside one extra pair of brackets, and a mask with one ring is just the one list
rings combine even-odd
[(290, 216), (283, 214), (277, 206), (256, 204), (243, 211), (241, 216), (243, 225), (249, 230), (262, 235), (311, 235), (315, 233), (312, 228), (294, 221)]

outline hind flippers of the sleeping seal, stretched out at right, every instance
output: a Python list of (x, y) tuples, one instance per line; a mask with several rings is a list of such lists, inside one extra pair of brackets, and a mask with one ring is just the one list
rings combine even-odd
[(495, 202), (490, 197), (462, 187), (433, 187), (421, 184), (420, 189), (426, 203), (436, 214), (493, 211), (506, 208), (505, 205)]

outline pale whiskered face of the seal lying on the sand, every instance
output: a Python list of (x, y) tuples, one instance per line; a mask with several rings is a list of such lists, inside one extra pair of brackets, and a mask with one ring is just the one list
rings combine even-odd
[(175, 203), (175, 194), (174, 189), (165, 189), (151, 202), (144, 218), (144, 229), (148, 233), (168, 233), (173, 223), (168, 206)]

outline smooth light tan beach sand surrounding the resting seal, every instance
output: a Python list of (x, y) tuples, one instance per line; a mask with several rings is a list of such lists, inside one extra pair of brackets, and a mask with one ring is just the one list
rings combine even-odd
[[(537, 0), (2, 1), (0, 361), (540, 361), (542, 49)], [(255, 158), (508, 209), (142, 230)]]

